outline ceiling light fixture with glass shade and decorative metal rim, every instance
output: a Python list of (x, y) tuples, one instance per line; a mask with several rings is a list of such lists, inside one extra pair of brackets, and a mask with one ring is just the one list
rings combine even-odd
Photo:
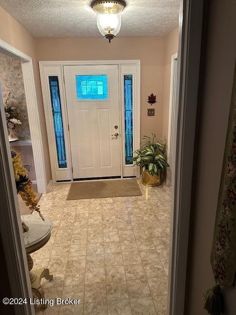
[(91, 7), (97, 14), (97, 27), (104, 38), (111, 40), (116, 37), (121, 25), (121, 12), (126, 3), (123, 0), (95, 0)]

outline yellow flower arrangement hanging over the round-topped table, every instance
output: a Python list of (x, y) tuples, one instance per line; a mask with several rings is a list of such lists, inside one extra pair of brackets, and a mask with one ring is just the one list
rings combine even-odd
[[(32, 189), (32, 182), (29, 179), (27, 169), (22, 164), (20, 155), (21, 154), (16, 154), (16, 152), (11, 151), (17, 193), (21, 195), (27, 207), (29, 207), (30, 210), (36, 211), (39, 214), (40, 218), (44, 221), (44, 218), (40, 212), (38, 202), (35, 199), (36, 194)], [(22, 226), (23, 232), (29, 230), (25, 222), (22, 222)]]

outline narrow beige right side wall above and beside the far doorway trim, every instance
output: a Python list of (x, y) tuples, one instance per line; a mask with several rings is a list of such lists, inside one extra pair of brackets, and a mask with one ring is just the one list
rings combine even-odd
[(176, 54), (178, 50), (178, 27), (165, 37), (165, 41), (162, 137), (164, 139), (168, 139), (171, 88), (171, 57), (172, 55)]

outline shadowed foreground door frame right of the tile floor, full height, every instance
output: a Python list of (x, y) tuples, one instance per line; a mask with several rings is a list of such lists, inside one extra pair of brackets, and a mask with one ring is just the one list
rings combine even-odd
[[(174, 123), (168, 315), (183, 315), (187, 277), (204, 0), (180, 0), (177, 64), (178, 113)], [(205, 17), (206, 18), (206, 17)], [(206, 32), (206, 30), (205, 30)]]

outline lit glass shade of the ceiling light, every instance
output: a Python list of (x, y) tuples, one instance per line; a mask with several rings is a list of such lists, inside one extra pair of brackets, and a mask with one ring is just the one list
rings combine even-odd
[(102, 14), (97, 13), (97, 27), (99, 32), (106, 36), (111, 34), (116, 36), (120, 30), (121, 15), (120, 13), (115, 14)]

